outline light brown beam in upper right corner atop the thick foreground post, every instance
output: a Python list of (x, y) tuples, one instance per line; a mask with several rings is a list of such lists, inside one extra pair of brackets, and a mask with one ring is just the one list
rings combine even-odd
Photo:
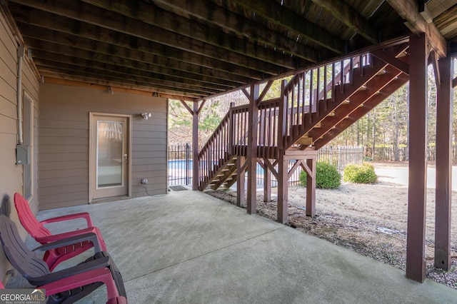
[(406, 26), (413, 34), (425, 33), (428, 44), (434, 49), (439, 56), (446, 57), (448, 53), (446, 39), (436, 27), (435, 24), (428, 24), (423, 16), (419, 13), (419, 7), (415, 0), (387, 0), (397, 13), (406, 20)]

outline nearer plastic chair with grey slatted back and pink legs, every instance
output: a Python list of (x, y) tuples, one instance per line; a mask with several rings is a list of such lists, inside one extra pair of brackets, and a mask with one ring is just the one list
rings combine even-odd
[(127, 303), (124, 280), (109, 253), (101, 250), (95, 233), (75, 235), (42, 245), (37, 251), (82, 240), (91, 240), (95, 255), (83, 263), (51, 273), (44, 260), (26, 247), (16, 225), (0, 215), (0, 240), (6, 258), (31, 285), (46, 290), (47, 303), (74, 303), (102, 285), (106, 286), (107, 303)]

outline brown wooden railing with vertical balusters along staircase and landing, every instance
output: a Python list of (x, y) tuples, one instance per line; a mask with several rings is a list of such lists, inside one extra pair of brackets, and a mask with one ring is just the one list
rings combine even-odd
[[(258, 105), (256, 144), (264, 149), (262, 155), (276, 158), (275, 151), (292, 146), (304, 135), (305, 126), (313, 126), (325, 117), (319, 113), (326, 113), (329, 103), (335, 102), (336, 90), (343, 92), (344, 85), (353, 82), (354, 74), (362, 76), (363, 67), (371, 63), (368, 54), (353, 56), (303, 71), (289, 83), (283, 81), (281, 98)], [(231, 157), (246, 156), (249, 127), (248, 105), (230, 108), (199, 153), (200, 186), (211, 181)]]

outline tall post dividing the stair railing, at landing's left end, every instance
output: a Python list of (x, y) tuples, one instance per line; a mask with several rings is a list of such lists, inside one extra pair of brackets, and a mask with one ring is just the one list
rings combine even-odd
[(247, 211), (248, 214), (256, 213), (257, 203), (257, 128), (258, 128), (258, 83), (251, 84), (249, 93), (249, 111), (248, 111), (248, 197)]

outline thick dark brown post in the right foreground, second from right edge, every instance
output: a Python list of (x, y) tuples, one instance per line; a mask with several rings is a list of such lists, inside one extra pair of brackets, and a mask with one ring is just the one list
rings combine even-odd
[(427, 61), (426, 34), (409, 40), (409, 181), (406, 277), (423, 282), (426, 278), (426, 185), (427, 185)]

